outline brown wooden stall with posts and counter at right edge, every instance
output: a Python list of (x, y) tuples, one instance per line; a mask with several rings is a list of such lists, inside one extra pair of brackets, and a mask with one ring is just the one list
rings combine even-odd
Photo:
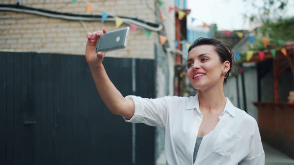
[(270, 52), (265, 53), (264, 57), (265, 62), (271, 62), (270, 59), (272, 59), (273, 102), (261, 102), (261, 79), (269, 71), (268, 68), (262, 68), (259, 65), (261, 62), (259, 56), (254, 56), (250, 62), (256, 62), (258, 66), (258, 102), (255, 102), (254, 105), (258, 107), (258, 125), (261, 137), (263, 141), (294, 158), (294, 104), (279, 101), (279, 77), (289, 67), (294, 74), (294, 51), (289, 46), (286, 48), (287, 56), (281, 51), (277, 51), (276, 58), (273, 58)]

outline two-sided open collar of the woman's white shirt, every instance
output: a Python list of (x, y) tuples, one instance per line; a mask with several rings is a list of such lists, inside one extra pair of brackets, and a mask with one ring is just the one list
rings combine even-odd
[[(229, 100), (228, 97), (226, 97), (227, 99), (227, 102), (226, 102), (226, 105), (225, 105), (225, 108), (224, 108), (224, 112), (225, 113), (226, 111), (232, 115), (233, 117), (235, 117), (235, 106), (231, 103), (231, 101)], [(186, 109), (194, 109), (196, 108), (196, 110), (198, 111), (198, 113), (201, 114), (201, 111), (200, 111), (200, 108), (199, 108), (199, 99), (198, 99), (198, 94), (195, 95), (195, 96), (192, 96), (190, 97), (187, 102), (186, 102)], [(222, 114), (223, 114), (222, 113)]]

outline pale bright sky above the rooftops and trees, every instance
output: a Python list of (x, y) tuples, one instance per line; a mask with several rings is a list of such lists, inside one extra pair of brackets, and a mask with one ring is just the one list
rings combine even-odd
[[(255, 0), (263, 4), (263, 0)], [(249, 2), (244, 0), (187, 0), (187, 8), (191, 9), (188, 15), (188, 27), (216, 23), (218, 30), (249, 29), (248, 19), (244, 13), (258, 13)], [(294, 16), (294, 0), (289, 0), (286, 16)], [(191, 17), (195, 21), (191, 23)]]

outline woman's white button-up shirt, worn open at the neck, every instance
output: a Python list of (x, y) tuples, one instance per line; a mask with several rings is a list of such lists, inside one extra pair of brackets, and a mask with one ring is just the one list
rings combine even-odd
[[(165, 130), (166, 165), (193, 165), (193, 152), (203, 119), (198, 96), (148, 99), (127, 96), (135, 114), (127, 122)], [(202, 139), (194, 165), (264, 165), (265, 153), (256, 120), (226, 98), (216, 127)]]

